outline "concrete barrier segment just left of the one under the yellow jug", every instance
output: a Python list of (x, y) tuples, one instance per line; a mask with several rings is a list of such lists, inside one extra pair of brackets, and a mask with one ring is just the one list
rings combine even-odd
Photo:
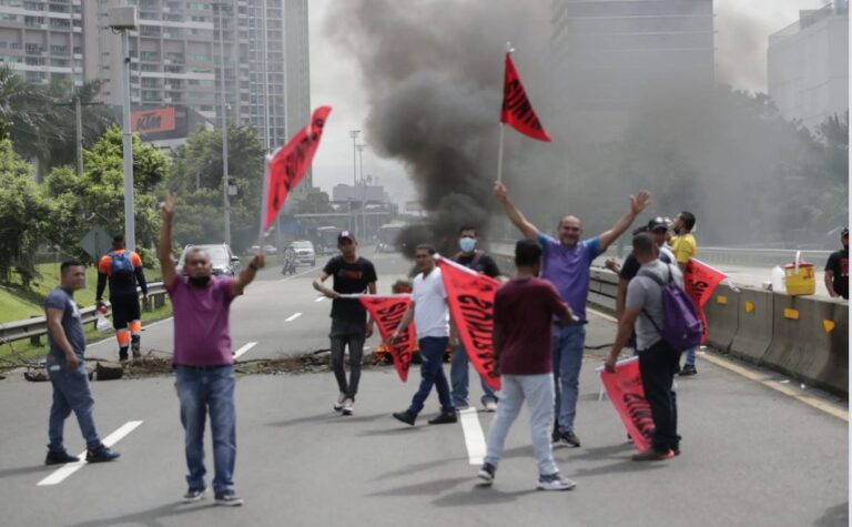
[(730, 353), (737, 357), (761, 364), (772, 344), (773, 297), (767, 291), (743, 287), (739, 294), (737, 333)]

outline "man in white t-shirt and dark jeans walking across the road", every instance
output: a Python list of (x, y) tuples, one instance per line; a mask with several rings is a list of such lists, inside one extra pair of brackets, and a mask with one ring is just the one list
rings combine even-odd
[(444, 374), (444, 353), (449, 344), (449, 307), (447, 306), (447, 292), (444, 290), (444, 281), (440, 277), (440, 268), (435, 265), (435, 247), (432, 245), (417, 245), (415, 262), (420, 271), (414, 278), (412, 304), (403, 315), (399, 326), (390, 336), (390, 342), (396, 343), (408, 324), (414, 321), (417, 327), (417, 344), (420, 346), (420, 387), (414, 394), (412, 405), (405, 412), (395, 412), (394, 417), (403, 423), (414, 426), (417, 414), (423, 411), (426, 397), (434, 385), (438, 391), (440, 401), (440, 414), (429, 420), (430, 425), (455, 423), (456, 409), (449, 396), (449, 383)]

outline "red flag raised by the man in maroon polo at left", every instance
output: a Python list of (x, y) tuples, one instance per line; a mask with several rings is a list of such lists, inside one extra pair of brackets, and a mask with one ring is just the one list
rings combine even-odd
[(320, 139), (323, 135), (323, 126), (331, 113), (331, 107), (320, 107), (311, 115), (307, 126), (298, 131), (290, 142), (275, 151), (268, 160), (268, 175), (266, 182), (266, 195), (264, 197), (263, 226), (266, 232), (281, 207), (287, 200), (287, 194), (305, 176), (311, 161), (314, 159)]

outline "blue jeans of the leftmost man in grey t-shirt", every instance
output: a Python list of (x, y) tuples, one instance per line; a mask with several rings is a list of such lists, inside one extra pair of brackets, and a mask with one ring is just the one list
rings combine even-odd
[(77, 415), (80, 430), (85, 438), (85, 446), (94, 450), (101, 446), (98, 430), (94, 428), (94, 399), (89, 389), (89, 374), (85, 364), (80, 361), (75, 371), (65, 367), (64, 359), (48, 357), (48, 376), (53, 385), (53, 404), (50, 407), (48, 420), (48, 449), (51, 452), (64, 452), (62, 434), (65, 419), (71, 412)]

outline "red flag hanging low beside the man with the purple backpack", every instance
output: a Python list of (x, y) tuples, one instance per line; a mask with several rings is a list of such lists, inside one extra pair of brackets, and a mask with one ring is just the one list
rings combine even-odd
[(645, 398), (642, 377), (639, 374), (639, 357), (630, 357), (616, 363), (616, 373), (599, 369), (600, 381), (607, 388), (609, 401), (616, 407), (618, 416), (630, 434), (633, 446), (639, 452), (651, 447), (653, 417), (651, 405)]

